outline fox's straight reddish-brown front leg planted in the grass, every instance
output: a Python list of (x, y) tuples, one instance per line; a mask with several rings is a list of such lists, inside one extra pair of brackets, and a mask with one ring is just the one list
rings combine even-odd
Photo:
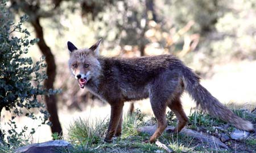
[(109, 129), (104, 141), (112, 142), (112, 138), (117, 131), (117, 126), (119, 124), (120, 118), (122, 117), (121, 116), (122, 111), (123, 111), (123, 102), (118, 102), (111, 105)]

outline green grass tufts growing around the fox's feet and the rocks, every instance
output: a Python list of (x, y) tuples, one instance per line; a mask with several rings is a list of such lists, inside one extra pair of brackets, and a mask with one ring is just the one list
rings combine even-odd
[[(210, 134), (206, 133), (205, 130), (214, 131), (213, 126), (224, 125), (224, 122), (200, 111), (191, 112), (188, 117), (189, 124), (186, 128), (199, 129), (199, 131), (203, 131), (206, 135)], [(177, 121), (172, 112), (167, 113), (167, 118), (169, 125), (176, 125)], [(108, 120), (90, 121), (88, 118), (77, 118), (69, 125), (68, 135), (65, 137), (66, 141), (72, 143), (73, 148), (68, 151), (63, 150), (62, 152), (166, 152), (155, 144), (144, 143), (151, 135), (138, 133), (137, 131), (139, 127), (156, 124), (154, 117), (146, 120), (145, 115), (139, 110), (135, 111), (131, 116), (125, 115), (123, 117), (122, 135), (121, 137), (114, 138), (112, 143), (104, 142), (108, 122)], [(233, 126), (228, 126), (221, 133), (228, 135), (233, 129)], [(52, 137), (53, 139), (60, 139), (57, 134), (53, 134)], [(164, 143), (175, 152), (232, 152), (232, 150), (225, 151), (217, 147), (212, 148), (207, 143), (202, 143), (195, 138), (183, 134), (163, 133), (158, 141)], [(233, 143), (233, 141), (228, 141), (226, 144), (232, 146), (234, 145)], [(244, 141), (237, 141), (236, 144), (240, 145), (241, 148), (246, 147), (246, 149), (255, 150), (255, 134)], [(0, 146), (0, 152), (11, 152), (13, 148)]]

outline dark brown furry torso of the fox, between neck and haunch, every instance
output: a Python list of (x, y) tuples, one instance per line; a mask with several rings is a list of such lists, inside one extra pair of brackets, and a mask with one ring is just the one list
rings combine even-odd
[(174, 56), (148, 56), (139, 58), (100, 58), (104, 83), (118, 88), (126, 100), (148, 97), (150, 83), (158, 75), (184, 66)]

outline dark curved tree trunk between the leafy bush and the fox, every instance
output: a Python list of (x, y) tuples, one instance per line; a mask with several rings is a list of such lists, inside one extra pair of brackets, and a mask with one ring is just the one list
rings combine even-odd
[[(55, 59), (51, 52), (51, 49), (47, 46), (46, 41), (44, 41), (43, 36), (43, 28), (40, 25), (39, 18), (36, 18), (35, 20), (31, 20), (31, 24), (35, 28), (36, 37), (40, 39), (38, 42), (39, 49), (43, 53), (43, 55), (46, 57), (46, 63), (47, 63), (47, 70), (46, 74), (48, 76), (48, 79), (44, 81), (44, 87), (49, 89), (53, 89), (53, 83), (55, 81), (56, 76), (56, 65), (55, 65)], [(52, 133), (58, 133), (59, 135), (62, 135), (62, 129), (60, 126), (59, 116), (57, 113), (57, 100), (55, 95), (45, 96), (46, 100), (46, 106), (49, 114), (51, 116), (49, 117), (49, 120), (52, 122), (51, 130)]]

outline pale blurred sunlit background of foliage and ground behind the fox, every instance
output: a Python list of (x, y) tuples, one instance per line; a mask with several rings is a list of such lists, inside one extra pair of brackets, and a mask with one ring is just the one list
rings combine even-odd
[[(110, 115), (109, 105), (80, 89), (71, 76), (67, 41), (88, 48), (102, 37), (100, 50), (107, 57), (174, 54), (200, 75), (203, 86), (222, 103), (256, 107), (256, 1), (11, 0), (7, 7), (16, 20), (29, 16), (24, 26), (40, 39), (29, 55), (35, 61), (46, 56), (45, 86), (62, 90), (42, 100), (53, 127), (37, 128), (34, 142), (52, 139), (51, 132), (65, 137), (75, 118)], [(187, 114), (195, 108), (186, 94), (183, 106)], [(135, 103), (137, 108), (152, 115), (148, 99)], [(16, 120), (20, 125), (35, 124), (28, 118)]]

